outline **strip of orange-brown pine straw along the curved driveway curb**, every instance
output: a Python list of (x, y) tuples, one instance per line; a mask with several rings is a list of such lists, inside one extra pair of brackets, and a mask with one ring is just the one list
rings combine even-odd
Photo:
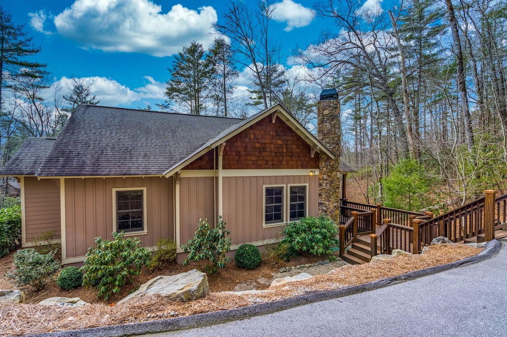
[(251, 304), (272, 302), (315, 290), (331, 290), (367, 283), (410, 271), (439, 266), (479, 254), (482, 248), (461, 244), (439, 244), (422, 255), (399, 256), (364, 265), (345, 266), (311, 280), (274, 287), (255, 295), (209, 293), (192, 302), (173, 302), (161, 297), (144, 297), (121, 305), (94, 304), (81, 308), (50, 307), (37, 304), (0, 306), (0, 335), (22, 335), (50, 331), (84, 329), (106, 325), (146, 322), (178, 316), (221, 311)]

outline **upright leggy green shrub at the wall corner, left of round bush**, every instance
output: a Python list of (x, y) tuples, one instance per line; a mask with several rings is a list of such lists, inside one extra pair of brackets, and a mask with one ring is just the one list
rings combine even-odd
[(203, 270), (212, 274), (216, 272), (216, 267), (224, 268), (225, 263), (231, 259), (225, 256), (226, 252), (231, 250), (231, 238), (226, 238), (231, 231), (225, 229), (226, 223), (219, 217), (219, 223), (216, 228), (211, 229), (208, 220), (199, 219), (197, 230), (193, 239), (188, 244), (183, 244), (182, 249), (188, 253), (188, 258), (183, 263), (188, 265), (190, 261), (207, 261)]

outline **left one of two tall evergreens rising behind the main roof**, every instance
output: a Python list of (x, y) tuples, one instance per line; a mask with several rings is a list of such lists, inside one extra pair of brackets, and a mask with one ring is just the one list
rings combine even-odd
[(215, 73), (213, 63), (205, 56), (202, 45), (193, 41), (184, 46), (183, 51), (174, 57), (171, 79), (166, 84), (163, 109), (172, 107), (172, 101), (190, 114), (200, 115), (206, 111), (206, 100), (211, 87), (211, 78)]

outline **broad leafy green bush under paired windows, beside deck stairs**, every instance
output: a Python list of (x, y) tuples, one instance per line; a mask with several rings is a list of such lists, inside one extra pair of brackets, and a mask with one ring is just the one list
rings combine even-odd
[(328, 216), (302, 218), (287, 225), (282, 233), (285, 235), (282, 243), (288, 243), (295, 251), (308, 251), (318, 256), (332, 255), (329, 247), (339, 244), (338, 226)]

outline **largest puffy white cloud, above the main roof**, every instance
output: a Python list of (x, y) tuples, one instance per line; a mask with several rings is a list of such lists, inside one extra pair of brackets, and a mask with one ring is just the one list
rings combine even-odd
[(163, 57), (193, 40), (204, 48), (212, 43), (209, 33), (218, 20), (212, 7), (195, 11), (177, 4), (161, 12), (162, 7), (150, 0), (76, 0), (55, 16), (54, 24), (60, 35), (82, 48), (105, 52)]

